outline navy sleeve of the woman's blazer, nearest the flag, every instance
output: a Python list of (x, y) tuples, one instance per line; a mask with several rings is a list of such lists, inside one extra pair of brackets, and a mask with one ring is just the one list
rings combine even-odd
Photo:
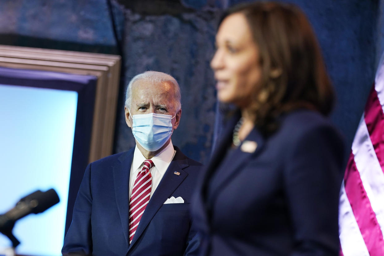
[(333, 127), (320, 126), (301, 134), (291, 148), (284, 173), (295, 239), (291, 255), (336, 256), (343, 141)]

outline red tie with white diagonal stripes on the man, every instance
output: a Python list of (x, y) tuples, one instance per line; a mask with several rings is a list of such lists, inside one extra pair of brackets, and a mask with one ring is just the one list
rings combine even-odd
[(152, 176), (149, 169), (153, 167), (152, 160), (145, 160), (141, 172), (137, 174), (129, 200), (129, 243), (132, 242), (139, 225), (141, 216), (147, 207), (151, 195)]

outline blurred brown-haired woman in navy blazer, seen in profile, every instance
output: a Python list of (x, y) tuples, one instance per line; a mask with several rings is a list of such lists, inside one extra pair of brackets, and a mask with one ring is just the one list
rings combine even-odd
[(334, 94), (297, 7), (247, 3), (223, 16), (211, 66), (233, 104), (193, 205), (202, 255), (338, 255), (344, 145)]

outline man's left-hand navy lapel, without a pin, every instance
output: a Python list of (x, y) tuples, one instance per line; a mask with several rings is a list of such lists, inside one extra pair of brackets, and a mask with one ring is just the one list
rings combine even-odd
[(134, 148), (122, 154), (119, 157), (119, 164), (113, 167), (113, 180), (115, 188), (116, 204), (119, 211), (120, 221), (124, 238), (129, 246), (128, 242), (128, 220), (129, 220), (129, 175), (131, 172), (131, 165), (133, 160)]

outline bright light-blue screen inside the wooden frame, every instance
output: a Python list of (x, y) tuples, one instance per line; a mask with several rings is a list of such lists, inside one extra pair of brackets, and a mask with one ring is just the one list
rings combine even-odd
[[(0, 214), (54, 188), (60, 203), (17, 221), (18, 254), (61, 255), (78, 93), (0, 84)], [(10, 247), (0, 233), (0, 252)]]

